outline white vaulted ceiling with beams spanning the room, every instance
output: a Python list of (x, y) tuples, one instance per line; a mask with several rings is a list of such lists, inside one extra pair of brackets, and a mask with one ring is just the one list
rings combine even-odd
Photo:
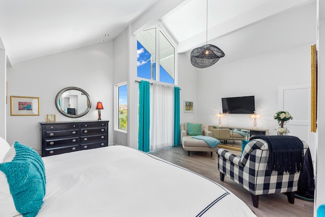
[(315, 1), (209, 0), (207, 13), (204, 0), (0, 0), (0, 38), (14, 65), (161, 24), (181, 53)]

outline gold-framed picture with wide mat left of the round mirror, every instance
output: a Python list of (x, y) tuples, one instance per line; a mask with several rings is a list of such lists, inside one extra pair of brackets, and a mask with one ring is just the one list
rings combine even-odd
[(11, 115), (40, 115), (39, 97), (11, 96)]

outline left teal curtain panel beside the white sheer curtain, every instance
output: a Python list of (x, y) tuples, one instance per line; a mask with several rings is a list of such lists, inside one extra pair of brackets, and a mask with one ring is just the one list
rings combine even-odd
[(150, 83), (142, 80), (139, 83), (139, 135), (138, 149), (150, 151)]

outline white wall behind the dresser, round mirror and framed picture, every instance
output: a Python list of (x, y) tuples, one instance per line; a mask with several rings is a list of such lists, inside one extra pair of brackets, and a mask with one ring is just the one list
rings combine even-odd
[[(10, 116), (7, 105), (7, 141), (19, 141), (40, 150), (38, 122), (46, 114), (56, 114), (56, 121), (73, 121), (55, 107), (54, 99), (61, 89), (76, 86), (88, 92), (91, 110), (79, 120), (96, 120), (96, 102), (104, 106), (103, 120), (113, 119), (113, 42), (101, 43), (21, 62), (7, 69), (8, 96), (40, 98), (40, 116)], [(109, 144), (112, 144), (109, 128)]]

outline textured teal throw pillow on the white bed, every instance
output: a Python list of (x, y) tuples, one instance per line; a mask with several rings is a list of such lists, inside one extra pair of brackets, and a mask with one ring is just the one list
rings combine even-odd
[(34, 217), (43, 205), (45, 168), (41, 156), (32, 148), (15, 142), (15, 157), (0, 164), (6, 174), (15, 207), (24, 217)]

